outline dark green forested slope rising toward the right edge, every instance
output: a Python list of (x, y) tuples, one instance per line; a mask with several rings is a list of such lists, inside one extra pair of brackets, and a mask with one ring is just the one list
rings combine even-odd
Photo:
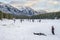
[(51, 13), (45, 13), (40, 15), (34, 15), (31, 17), (31, 19), (59, 19), (60, 18), (60, 12), (51, 12)]

